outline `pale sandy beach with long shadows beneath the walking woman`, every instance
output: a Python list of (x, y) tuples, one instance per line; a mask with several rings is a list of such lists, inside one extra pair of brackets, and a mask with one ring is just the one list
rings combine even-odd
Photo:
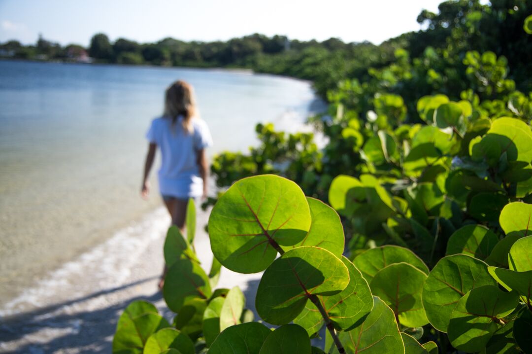
[[(203, 229), (208, 218), (209, 211), (198, 211), (195, 241), (207, 271), (213, 257)], [(118, 317), (137, 299), (154, 302), (171, 320), (172, 313), (157, 290), (169, 223), (167, 211), (159, 208), (7, 303), (0, 311), (0, 352), (111, 352)], [(260, 273), (238, 274), (223, 268), (218, 287), (240, 286), (246, 307), (254, 310), (260, 277)]]

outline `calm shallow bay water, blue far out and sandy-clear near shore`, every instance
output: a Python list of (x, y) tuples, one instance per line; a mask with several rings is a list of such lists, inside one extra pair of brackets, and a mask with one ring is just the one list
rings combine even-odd
[(161, 205), (155, 170), (151, 199), (138, 193), (144, 134), (176, 79), (196, 89), (211, 154), (321, 106), (308, 83), (273, 76), (0, 61), (0, 304)]

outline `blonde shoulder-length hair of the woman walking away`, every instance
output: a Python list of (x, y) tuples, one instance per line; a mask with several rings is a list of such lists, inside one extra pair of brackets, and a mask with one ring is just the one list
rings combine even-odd
[(178, 80), (166, 90), (163, 116), (172, 118), (172, 126), (183, 116), (181, 124), (187, 133), (193, 133), (192, 119), (197, 114), (194, 89), (185, 81)]

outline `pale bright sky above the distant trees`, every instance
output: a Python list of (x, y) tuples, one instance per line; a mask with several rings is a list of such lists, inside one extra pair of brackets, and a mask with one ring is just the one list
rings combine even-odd
[(36, 42), (39, 33), (62, 45), (87, 46), (103, 32), (140, 43), (165, 37), (228, 40), (253, 33), (319, 41), (380, 44), (417, 31), (422, 9), (443, 0), (0, 0), (0, 42)]

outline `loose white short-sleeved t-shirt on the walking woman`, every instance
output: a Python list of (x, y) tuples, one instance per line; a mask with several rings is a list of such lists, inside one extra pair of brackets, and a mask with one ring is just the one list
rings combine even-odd
[(155, 118), (146, 138), (161, 149), (161, 194), (187, 199), (203, 194), (203, 179), (197, 164), (197, 152), (212, 146), (212, 137), (205, 121), (193, 118), (194, 132), (187, 133), (181, 119), (181, 116), (178, 117), (172, 126), (171, 118)]

